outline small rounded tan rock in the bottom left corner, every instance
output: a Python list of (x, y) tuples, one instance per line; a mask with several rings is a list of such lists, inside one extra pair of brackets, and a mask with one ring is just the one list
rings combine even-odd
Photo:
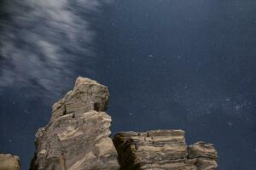
[(10, 154), (0, 154), (0, 170), (20, 170), (20, 158)]

